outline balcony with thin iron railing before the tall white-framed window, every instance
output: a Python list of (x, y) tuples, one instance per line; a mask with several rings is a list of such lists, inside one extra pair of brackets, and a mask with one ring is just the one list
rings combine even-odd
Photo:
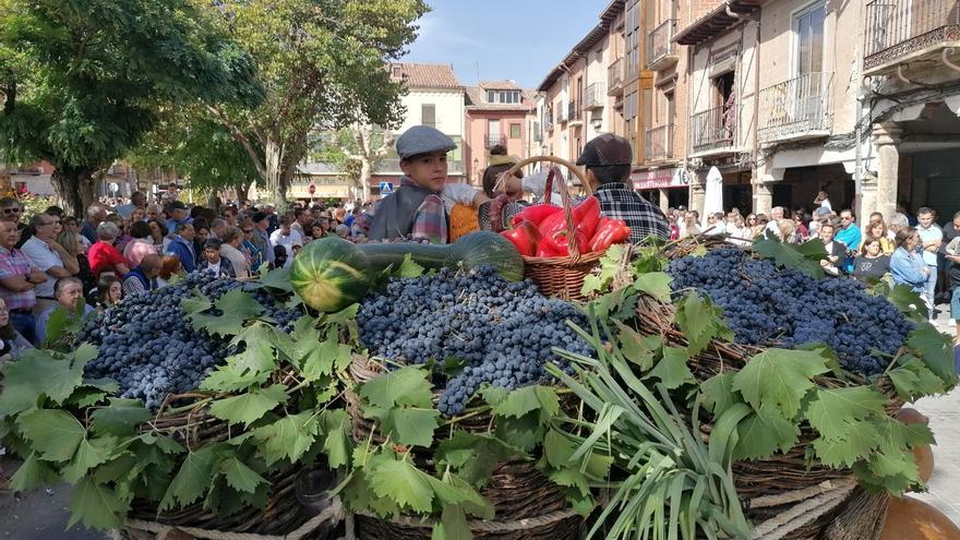
[(807, 73), (760, 91), (757, 140), (772, 144), (830, 134), (832, 73)]

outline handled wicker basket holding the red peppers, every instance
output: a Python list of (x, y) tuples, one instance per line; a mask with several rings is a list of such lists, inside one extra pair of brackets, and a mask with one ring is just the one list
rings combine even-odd
[[(580, 183), (587, 192), (587, 195), (592, 194), (590, 184), (587, 182), (584, 172), (576, 165), (559, 157), (528, 157), (514, 165), (504, 173), (504, 176), (514, 175), (527, 165), (537, 161), (550, 161), (566, 167), (580, 179)], [(551, 192), (552, 190), (548, 187), (543, 193), (544, 203), (550, 202)], [(600, 259), (603, 256), (603, 252), (580, 254), (581, 249), (585, 247), (577, 245), (576, 239), (574, 238), (574, 223), (573, 217), (571, 216), (569, 193), (567, 193), (566, 187), (560, 190), (560, 196), (563, 201), (564, 217), (566, 217), (566, 235), (569, 239), (571, 255), (562, 257), (525, 256), (524, 276), (532, 279), (540, 288), (540, 291), (547, 296), (559, 297), (564, 300), (584, 300), (585, 298), (580, 293), (580, 290), (584, 287), (584, 278), (586, 278), (597, 266)]]

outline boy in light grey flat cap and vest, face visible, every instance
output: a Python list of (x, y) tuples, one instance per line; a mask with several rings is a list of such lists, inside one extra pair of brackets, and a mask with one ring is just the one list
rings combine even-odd
[(368, 229), (371, 240), (405, 238), (446, 243), (447, 213), (441, 193), (446, 184), (447, 152), (453, 139), (429, 125), (415, 125), (397, 140), (400, 187), (376, 206)]

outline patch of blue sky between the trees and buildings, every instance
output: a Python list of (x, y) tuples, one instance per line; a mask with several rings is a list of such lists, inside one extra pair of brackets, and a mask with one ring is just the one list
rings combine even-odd
[(513, 79), (536, 88), (600, 22), (608, 1), (432, 0), (404, 61), (452, 63), (460, 84)]

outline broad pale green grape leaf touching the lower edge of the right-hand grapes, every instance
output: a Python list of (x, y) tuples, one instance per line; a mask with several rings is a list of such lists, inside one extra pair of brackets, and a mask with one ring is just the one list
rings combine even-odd
[(800, 411), (801, 399), (814, 387), (813, 377), (827, 371), (826, 360), (816, 352), (768, 349), (751, 358), (733, 376), (733, 389), (754, 410), (769, 405), (792, 419)]

